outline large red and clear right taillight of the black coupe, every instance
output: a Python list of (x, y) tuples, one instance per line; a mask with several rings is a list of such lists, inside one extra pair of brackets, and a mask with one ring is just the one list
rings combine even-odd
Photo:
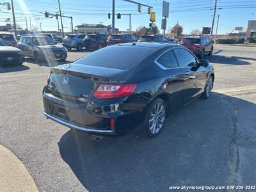
[(131, 95), (137, 84), (100, 84), (93, 97), (99, 99), (113, 99)]

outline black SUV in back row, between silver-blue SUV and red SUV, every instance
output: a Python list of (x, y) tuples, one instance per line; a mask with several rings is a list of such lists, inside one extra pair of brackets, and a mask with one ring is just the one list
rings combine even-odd
[(102, 47), (106, 47), (106, 41), (106, 34), (86, 35), (83, 44), (86, 49), (101, 49)]

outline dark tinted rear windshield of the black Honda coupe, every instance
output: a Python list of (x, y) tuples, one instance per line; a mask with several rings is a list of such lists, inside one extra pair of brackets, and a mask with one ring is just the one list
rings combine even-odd
[(154, 49), (147, 47), (109, 46), (92, 52), (74, 63), (125, 70), (140, 63), (153, 51)]

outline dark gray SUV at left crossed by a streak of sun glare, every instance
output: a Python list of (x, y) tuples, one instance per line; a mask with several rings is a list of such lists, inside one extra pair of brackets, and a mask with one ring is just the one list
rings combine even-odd
[(25, 56), (35, 58), (40, 62), (47, 59), (66, 60), (67, 49), (55, 42), (48, 36), (22, 36), (18, 43)]

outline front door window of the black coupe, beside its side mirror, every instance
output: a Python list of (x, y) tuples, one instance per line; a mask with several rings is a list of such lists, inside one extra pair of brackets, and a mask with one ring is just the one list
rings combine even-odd
[(173, 49), (180, 67), (189, 67), (196, 65), (196, 58), (187, 50), (182, 48)]

